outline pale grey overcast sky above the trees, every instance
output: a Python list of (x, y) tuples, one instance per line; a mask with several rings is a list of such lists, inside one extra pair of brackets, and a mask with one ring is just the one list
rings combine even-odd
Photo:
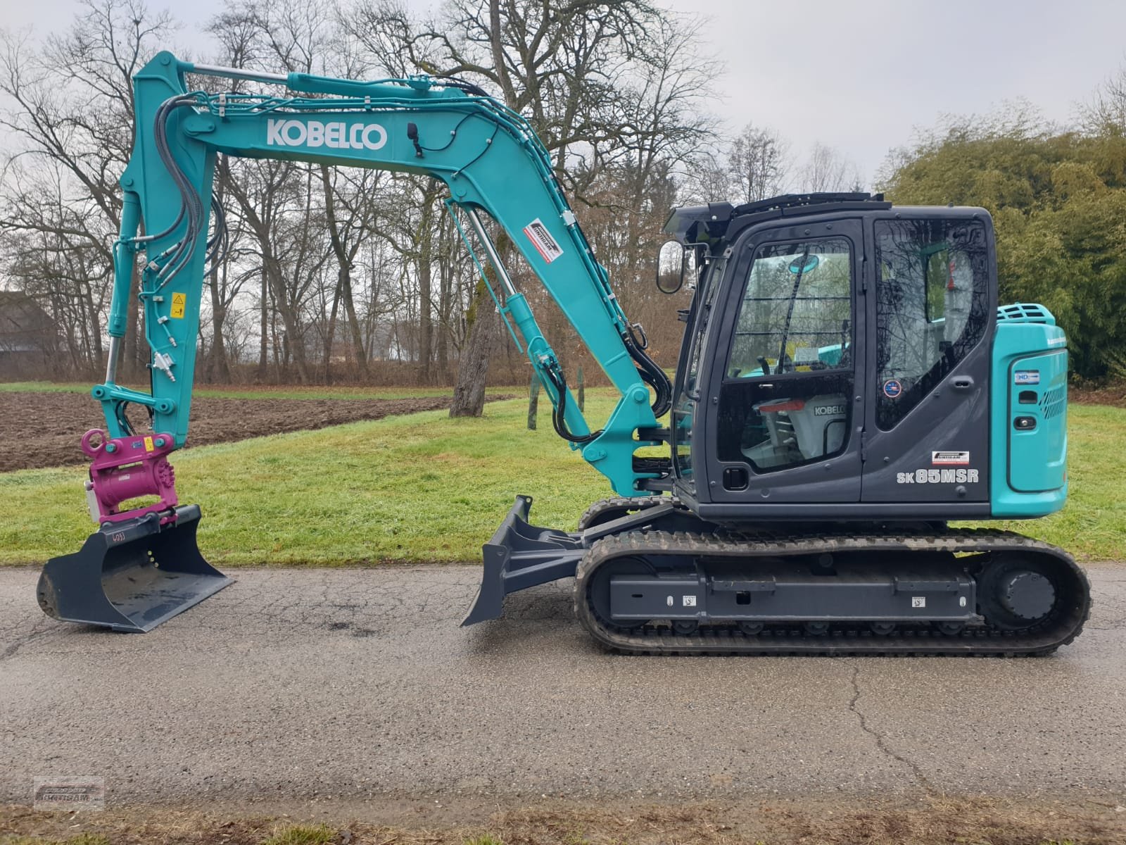
[[(797, 159), (820, 141), (855, 161), (865, 180), (891, 148), (942, 114), (1025, 98), (1066, 123), (1126, 56), (1126, 0), (665, 2), (711, 18), (701, 46), (726, 66), (714, 110), (732, 132), (748, 121), (772, 127)], [(77, 8), (73, 0), (0, 5), (0, 25), (37, 34), (65, 26)], [(185, 24), (181, 45), (209, 53), (198, 30), (222, 0), (167, 6)]]

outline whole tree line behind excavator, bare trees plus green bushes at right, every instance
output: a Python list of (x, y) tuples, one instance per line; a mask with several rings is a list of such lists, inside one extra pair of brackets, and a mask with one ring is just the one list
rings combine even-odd
[[(708, 110), (722, 69), (700, 47), (705, 21), (649, 0), (447, 0), (428, 16), (397, 0), (227, 0), (207, 24), (202, 55), (177, 50), (178, 23), (141, 0), (78, 8), (70, 26), (44, 38), (0, 37), (0, 287), (32, 296), (57, 328), (46, 339), (53, 375), (90, 377), (105, 366), (132, 75), (162, 48), (239, 68), (427, 73), (484, 88), (531, 122), (626, 313), (645, 326), (664, 366), (676, 363), (676, 312), (688, 296), (653, 286), (673, 205), (864, 185), (824, 143), (802, 158), (770, 127), (727, 135)], [(896, 202), (989, 208), (1002, 300), (1047, 304), (1084, 377), (1112, 374), (1126, 359), (1115, 304), (1126, 285), (1124, 87), (1106, 86), (1067, 131), (1027, 108), (948, 122), (893, 151), (879, 175)], [(471, 412), (490, 371), (495, 382), (527, 377), (437, 180), (223, 155), (215, 179), (231, 248), (206, 278), (198, 377), (456, 382)], [(506, 251), (564, 366), (597, 372)], [(131, 308), (122, 371), (141, 380), (143, 315), (135, 297)]]

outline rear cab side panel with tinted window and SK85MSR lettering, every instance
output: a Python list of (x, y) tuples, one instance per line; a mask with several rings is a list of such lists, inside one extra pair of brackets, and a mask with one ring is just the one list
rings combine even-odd
[(995, 326), (981, 210), (876, 217), (863, 501), (985, 502)]

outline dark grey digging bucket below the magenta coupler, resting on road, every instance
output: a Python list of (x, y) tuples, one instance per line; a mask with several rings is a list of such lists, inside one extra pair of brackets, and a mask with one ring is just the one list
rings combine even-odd
[(39, 606), (64, 622), (145, 632), (231, 584), (196, 545), (199, 506), (161, 525), (145, 514), (102, 526), (75, 554), (52, 558), (39, 576)]

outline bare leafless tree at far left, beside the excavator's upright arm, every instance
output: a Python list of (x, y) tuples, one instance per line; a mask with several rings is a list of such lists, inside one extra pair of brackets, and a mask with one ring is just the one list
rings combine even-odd
[[(109, 244), (122, 206), (117, 178), (133, 148), (132, 77), (173, 29), (167, 12), (150, 14), (138, 0), (81, 0), (70, 29), (38, 48), (26, 36), (0, 36), (0, 92), (11, 104), (0, 114), (0, 126), (15, 146), (0, 188), (10, 213), (0, 229), (36, 233), (15, 244), (43, 248), (51, 241), (56, 250), (83, 251), (91, 275), (73, 281), (72, 295), (87, 302), (81, 313), (93, 321), (84, 331), (96, 357), (101, 330), (92, 305), (105, 299), (111, 278)], [(11, 166), (15, 157), (21, 159), (19, 167)], [(28, 176), (41, 167), (54, 169), (63, 202), (43, 203), (26, 189)], [(95, 292), (92, 284), (102, 290)], [(136, 303), (131, 296), (122, 361), (126, 375), (135, 375), (144, 357)]]

